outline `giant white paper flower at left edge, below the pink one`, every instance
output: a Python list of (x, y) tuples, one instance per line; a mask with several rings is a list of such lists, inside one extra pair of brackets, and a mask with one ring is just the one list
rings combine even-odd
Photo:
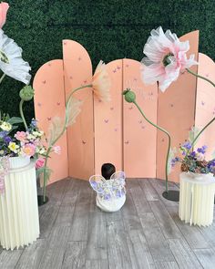
[(22, 48), (0, 29), (0, 69), (5, 75), (28, 84), (31, 67), (22, 58)]

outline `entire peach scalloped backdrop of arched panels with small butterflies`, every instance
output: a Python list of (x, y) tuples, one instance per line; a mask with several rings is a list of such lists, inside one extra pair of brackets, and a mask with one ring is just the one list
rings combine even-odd
[[(189, 54), (197, 57), (199, 31), (180, 37), (187, 39)], [(49, 61), (40, 67), (34, 79), (36, 119), (46, 132), (54, 116), (64, 116), (67, 94), (91, 83), (92, 65), (87, 50), (75, 41), (63, 40), (63, 55), (64, 60)], [(148, 119), (158, 120), (161, 127), (169, 130), (172, 146), (178, 147), (179, 142), (187, 139), (195, 120), (202, 126), (215, 114), (212, 88), (202, 80), (198, 79), (195, 119), (196, 78), (185, 72), (165, 93), (158, 93), (156, 85), (143, 84), (139, 67), (139, 62), (132, 59), (107, 64), (112, 80), (112, 100), (107, 104), (93, 98), (90, 88), (77, 92), (76, 97), (84, 105), (77, 123), (57, 142), (62, 147), (61, 156), (52, 154), (49, 160), (54, 171), (51, 181), (67, 176), (87, 180), (93, 173), (100, 173), (104, 162), (113, 162), (117, 170), (124, 169), (130, 178), (164, 178), (167, 138), (142, 119), (137, 108), (122, 100), (121, 92), (125, 88), (136, 92), (138, 104)], [(197, 71), (197, 67), (192, 70)], [(199, 73), (204, 70), (209, 78), (214, 76), (214, 63), (200, 54)], [(202, 143), (206, 140), (210, 145), (213, 143), (211, 130), (214, 125), (202, 136)], [(170, 174), (169, 180), (179, 181), (179, 168)]]

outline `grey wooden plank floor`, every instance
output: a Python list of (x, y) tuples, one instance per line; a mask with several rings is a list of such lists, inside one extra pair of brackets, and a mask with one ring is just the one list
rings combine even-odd
[[(0, 248), (1, 269), (215, 268), (215, 224), (189, 226), (178, 202), (165, 200), (164, 181), (128, 180), (119, 212), (101, 212), (87, 181), (48, 186), (39, 208), (40, 238), (11, 251)], [(170, 183), (170, 189), (179, 190)]]

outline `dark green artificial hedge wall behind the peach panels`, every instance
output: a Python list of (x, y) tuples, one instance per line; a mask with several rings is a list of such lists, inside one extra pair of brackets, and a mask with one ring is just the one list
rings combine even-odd
[[(6, 0), (5, 0), (6, 1)], [(123, 57), (140, 60), (152, 28), (162, 26), (178, 36), (200, 29), (200, 52), (215, 57), (214, 0), (7, 0), (10, 9), (5, 34), (23, 48), (23, 57), (36, 70), (62, 58), (62, 39), (87, 48), (96, 67)], [(12, 78), (1, 84), (0, 110), (18, 115), (18, 92), (24, 85)], [(27, 119), (34, 117), (26, 103)]]

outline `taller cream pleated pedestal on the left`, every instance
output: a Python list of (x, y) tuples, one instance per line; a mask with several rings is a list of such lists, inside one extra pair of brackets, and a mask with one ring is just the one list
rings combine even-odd
[(33, 243), (38, 237), (35, 163), (29, 159), (20, 162), (18, 159), (10, 160), (10, 169), (5, 175), (5, 191), (0, 194), (1, 245), (6, 250), (13, 250)]

